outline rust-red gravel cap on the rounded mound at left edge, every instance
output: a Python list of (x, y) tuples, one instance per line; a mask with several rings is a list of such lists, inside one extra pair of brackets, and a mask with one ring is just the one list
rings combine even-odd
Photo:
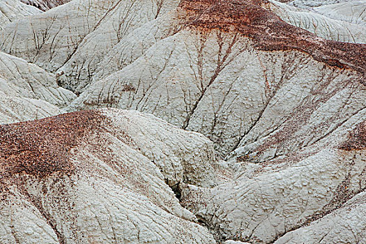
[(40, 178), (56, 171), (70, 174), (70, 149), (100, 128), (102, 120), (91, 110), (0, 125), (0, 182), (20, 173)]

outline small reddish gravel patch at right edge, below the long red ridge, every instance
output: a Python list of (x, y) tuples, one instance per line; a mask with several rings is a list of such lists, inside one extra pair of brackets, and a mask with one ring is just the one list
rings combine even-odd
[(363, 150), (366, 148), (366, 121), (359, 123), (349, 133), (349, 139), (340, 146), (344, 151)]

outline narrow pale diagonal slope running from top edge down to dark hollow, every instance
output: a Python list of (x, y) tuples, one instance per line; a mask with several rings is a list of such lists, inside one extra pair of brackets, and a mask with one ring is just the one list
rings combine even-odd
[[(79, 48), (56, 73), (59, 83), (81, 93), (100, 68), (100, 62), (123, 38), (146, 22), (165, 15), (179, 0), (118, 1), (116, 7), (86, 36)], [(75, 20), (77, 21), (77, 20)], [(176, 30), (171, 29), (171, 32)]]

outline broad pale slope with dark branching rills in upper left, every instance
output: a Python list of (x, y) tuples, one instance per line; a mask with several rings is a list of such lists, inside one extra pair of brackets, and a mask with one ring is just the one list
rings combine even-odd
[(47, 70), (57, 70), (114, 7), (113, 1), (73, 1), (18, 20), (2, 31), (1, 49)]

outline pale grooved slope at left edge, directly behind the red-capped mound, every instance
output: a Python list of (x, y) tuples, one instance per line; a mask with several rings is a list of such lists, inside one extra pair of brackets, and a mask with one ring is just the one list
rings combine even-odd
[(55, 75), (23, 59), (0, 52), (0, 123), (61, 114), (76, 98), (56, 84)]

